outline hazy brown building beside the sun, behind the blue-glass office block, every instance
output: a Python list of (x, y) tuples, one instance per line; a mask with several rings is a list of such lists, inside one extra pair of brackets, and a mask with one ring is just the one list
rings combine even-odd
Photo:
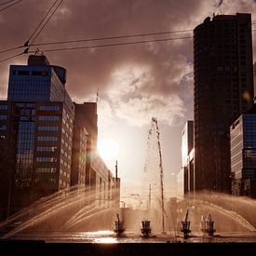
[(106, 206), (113, 199), (115, 179), (97, 151), (97, 103), (74, 103), (74, 106), (72, 185), (84, 184), (91, 202)]

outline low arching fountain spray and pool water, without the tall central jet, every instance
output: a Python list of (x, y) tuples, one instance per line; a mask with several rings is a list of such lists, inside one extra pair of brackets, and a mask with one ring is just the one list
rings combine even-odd
[[(88, 205), (92, 195), (83, 193), (71, 190), (39, 200), (33, 208), (24, 209), (0, 223), (2, 238), (53, 243), (256, 242), (256, 202), (253, 199), (202, 193), (197, 194), (195, 200), (179, 201), (176, 207), (166, 203), (167, 235), (162, 236), (158, 209), (115, 209), (95, 202)], [(192, 233), (184, 240), (180, 230), (187, 207)], [(124, 236), (118, 238), (113, 231), (117, 212), (126, 227)], [(217, 230), (213, 237), (204, 236), (200, 231), (201, 216), (208, 213)], [(141, 221), (145, 216), (152, 228), (148, 239), (141, 237)]]

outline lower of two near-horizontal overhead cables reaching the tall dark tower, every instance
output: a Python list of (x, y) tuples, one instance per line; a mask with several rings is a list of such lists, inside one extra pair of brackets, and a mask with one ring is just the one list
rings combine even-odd
[[(97, 48), (97, 47), (116, 47), (116, 46), (127, 46), (127, 45), (136, 45), (136, 44), (154, 43), (154, 42), (167, 42), (167, 41), (189, 39), (189, 38), (193, 38), (193, 36), (172, 37), (172, 38), (165, 38), (165, 39), (143, 40), (143, 41), (115, 43), (115, 44), (85, 46), (85, 47), (62, 47), (62, 48), (53, 48), (53, 49), (42, 49), (42, 51), (43, 52), (50, 52), (50, 51), (75, 50), (75, 49)], [(28, 51), (28, 53), (33, 53), (33, 52), (34, 51)]]

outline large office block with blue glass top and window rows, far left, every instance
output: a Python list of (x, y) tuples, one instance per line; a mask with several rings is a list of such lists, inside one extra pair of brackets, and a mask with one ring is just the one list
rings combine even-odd
[(2, 218), (70, 186), (74, 103), (65, 74), (43, 55), (10, 66), (7, 101), (0, 102), (0, 166), (9, 167), (1, 170)]

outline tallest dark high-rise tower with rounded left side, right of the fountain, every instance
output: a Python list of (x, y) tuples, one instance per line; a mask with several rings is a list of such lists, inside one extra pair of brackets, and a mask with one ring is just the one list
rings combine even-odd
[(194, 66), (195, 189), (230, 193), (229, 128), (253, 103), (250, 14), (195, 27)]

